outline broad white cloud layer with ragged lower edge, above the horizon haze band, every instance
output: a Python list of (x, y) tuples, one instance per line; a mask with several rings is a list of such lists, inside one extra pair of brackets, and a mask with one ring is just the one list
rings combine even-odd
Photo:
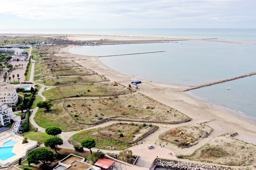
[(127, 25), (184, 22), (239, 22), (250, 16), (253, 0), (1, 0), (0, 14), (32, 20), (69, 19)]

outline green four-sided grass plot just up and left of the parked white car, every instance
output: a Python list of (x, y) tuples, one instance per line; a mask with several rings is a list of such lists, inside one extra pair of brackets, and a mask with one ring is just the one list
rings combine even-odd
[[(130, 142), (140, 138), (153, 128), (154, 126), (146, 124), (115, 123), (106, 127), (76, 133), (69, 139), (69, 142), (79, 144), (84, 138), (92, 137), (97, 142), (96, 148), (108, 150), (112, 146), (113, 150), (125, 150), (131, 147)], [(120, 134), (123, 134), (123, 137)]]

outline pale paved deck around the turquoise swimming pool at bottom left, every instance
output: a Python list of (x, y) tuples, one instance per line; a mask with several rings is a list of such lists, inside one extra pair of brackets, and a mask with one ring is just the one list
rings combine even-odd
[[(9, 140), (17, 141), (16, 144), (11, 145), (3, 145), (5, 142), (8, 142)], [(26, 156), (26, 153), (35, 148), (37, 146), (37, 142), (28, 140), (29, 142), (26, 144), (22, 144), (23, 137), (17, 136), (14, 133), (1, 133), (0, 134), (0, 147), (8, 147), (13, 146), (12, 153), (15, 153), (15, 156), (12, 156), (9, 159), (6, 159), (5, 161), (0, 159), (0, 165), (1, 166), (8, 166), (16, 161), (18, 161), (20, 158), (24, 158)]]

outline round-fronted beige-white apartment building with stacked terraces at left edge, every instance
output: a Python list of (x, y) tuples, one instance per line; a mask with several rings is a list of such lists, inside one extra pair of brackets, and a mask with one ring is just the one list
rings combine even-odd
[(18, 102), (18, 95), (13, 85), (0, 82), (0, 103), (15, 106)]

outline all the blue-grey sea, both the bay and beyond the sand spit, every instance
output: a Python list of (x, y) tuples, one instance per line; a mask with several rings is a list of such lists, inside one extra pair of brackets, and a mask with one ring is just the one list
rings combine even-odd
[[(110, 68), (138, 79), (188, 87), (256, 72), (256, 29), (0, 30), (0, 34), (3, 33), (143, 35), (218, 38), (223, 41), (245, 42), (237, 44), (188, 40), (169, 43), (76, 46), (71, 48), (70, 52), (107, 56), (165, 51), (99, 59)], [(256, 122), (256, 75), (195, 89), (188, 93)]]

